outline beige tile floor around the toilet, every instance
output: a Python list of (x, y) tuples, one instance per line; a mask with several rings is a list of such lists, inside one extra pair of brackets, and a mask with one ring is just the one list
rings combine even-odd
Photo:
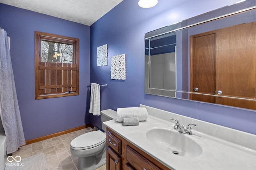
[[(20, 156), (22, 159), (44, 152), (48, 170), (77, 170), (78, 157), (70, 153), (70, 142), (84, 133), (92, 131), (92, 128), (81, 129), (72, 133), (32, 143), (20, 147), (12, 156)], [(106, 170), (106, 164), (97, 170)]]

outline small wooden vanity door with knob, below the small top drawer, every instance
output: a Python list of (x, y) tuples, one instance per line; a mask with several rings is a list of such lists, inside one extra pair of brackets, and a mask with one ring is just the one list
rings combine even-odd
[(121, 170), (121, 158), (107, 147), (107, 170)]

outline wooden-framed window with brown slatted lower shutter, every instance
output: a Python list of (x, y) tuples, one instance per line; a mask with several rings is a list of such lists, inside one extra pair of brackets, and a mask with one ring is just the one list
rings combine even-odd
[(79, 95), (79, 39), (35, 31), (35, 98)]

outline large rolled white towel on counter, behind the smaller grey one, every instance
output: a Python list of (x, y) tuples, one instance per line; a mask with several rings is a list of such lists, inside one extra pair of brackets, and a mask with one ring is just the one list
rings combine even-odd
[(145, 107), (125, 107), (117, 109), (116, 121), (122, 122), (124, 118), (138, 117), (140, 121), (148, 119), (148, 111)]

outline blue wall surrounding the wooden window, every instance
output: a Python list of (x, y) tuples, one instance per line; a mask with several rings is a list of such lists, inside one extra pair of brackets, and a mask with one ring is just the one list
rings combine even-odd
[[(25, 139), (90, 123), (90, 27), (0, 4), (0, 27), (10, 36), (10, 53)], [(35, 31), (80, 39), (80, 95), (35, 100)], [(87, 112), (88, 113), (88, 112)]]

